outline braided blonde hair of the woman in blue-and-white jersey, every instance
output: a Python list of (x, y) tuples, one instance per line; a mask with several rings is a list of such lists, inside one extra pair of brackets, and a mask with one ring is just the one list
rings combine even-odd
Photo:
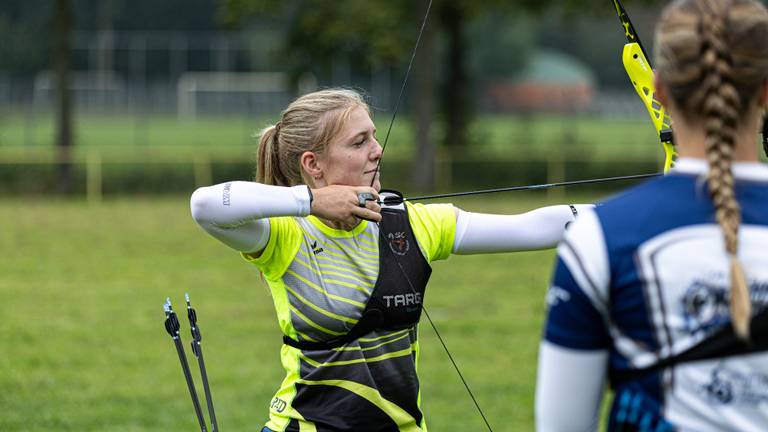
[(751, 300), (738, 259), (741, 208), (732, 172), (737, 128), (768, 78), (768, 12), (754, 0), (680, 0), (656, 28), (656, 66), (669, 97), (703, 120), (707, 183), (730, 260), (731, 317), (749, 339)]

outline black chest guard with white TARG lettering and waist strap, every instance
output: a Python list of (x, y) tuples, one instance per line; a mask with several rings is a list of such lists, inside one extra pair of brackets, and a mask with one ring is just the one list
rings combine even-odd
[(296, 341), (283, 336), (283, 343), (299, 349), (326, 350), (345, 345), (374, 330), (412, 327), (421, 317), (424, 290), (431, 274), (432, 267), (416, 243), (405, 204), (402, 209), (382, 208), (379, 276), (360, 320), (349, 333), (327, 341)]

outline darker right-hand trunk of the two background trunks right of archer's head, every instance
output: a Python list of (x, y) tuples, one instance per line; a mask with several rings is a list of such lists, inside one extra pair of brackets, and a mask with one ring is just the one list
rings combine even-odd
[(467, 145), (467, 125), (472, 112), (466, 70), (463, 6), (455, 2), (443, 3), (442, 20), (448, 42), (447, 79), (442, 91), (445, 144), (452, 153), (460, 154)]

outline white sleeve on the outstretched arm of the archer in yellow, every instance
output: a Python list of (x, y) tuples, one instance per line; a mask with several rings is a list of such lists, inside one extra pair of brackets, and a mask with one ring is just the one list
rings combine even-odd
[(514, 252), (555, 247), (576, 212), (592, 204), (542, 207), (518, 215), (470, 213), (459, 210), (453, 253)]

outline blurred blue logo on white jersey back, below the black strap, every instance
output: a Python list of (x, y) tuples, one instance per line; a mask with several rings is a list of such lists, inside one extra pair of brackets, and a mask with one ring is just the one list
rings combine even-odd
[(768, 376), (742, 373), (720, 362), (701, 390), (710, 402), (756, 406), (768, 401)]

